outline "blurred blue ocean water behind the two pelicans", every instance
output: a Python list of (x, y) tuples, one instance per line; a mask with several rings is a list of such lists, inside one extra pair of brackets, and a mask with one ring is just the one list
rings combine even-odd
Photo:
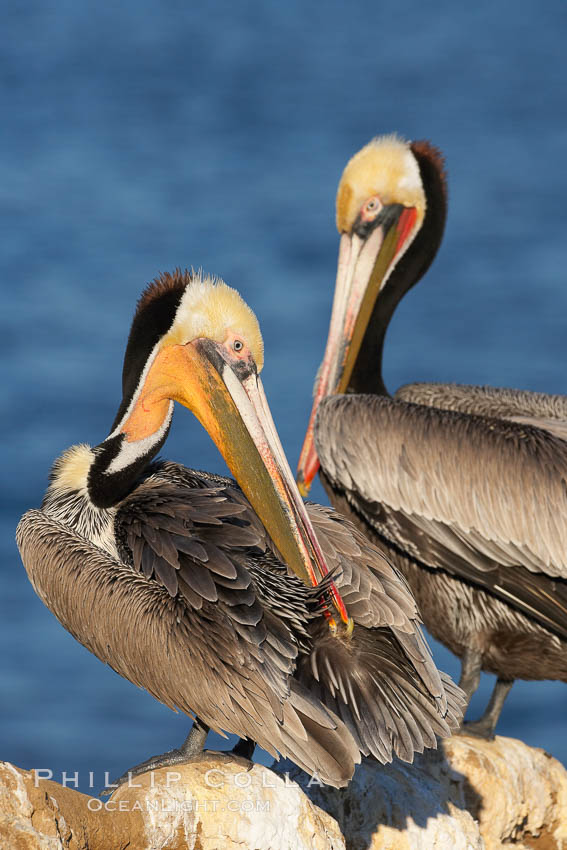
[[(98, 787), (187, 731), (59, 626), (14, 544), (52, 460), (106, 436), (134, 303), (160, 270), (202, 266), (257, 312), (294, 466), (341, 170), (377, 133), (426, 137), (447, 158), (449, 221), (392, 323), (388, 386), (567, 393), (566, 24), (559, 0), (4, 4), (0, 759), (79, 771), (88, 790), (88, 771)], [(165, 454), (223, 470), (182, 409)], [(499, 732), (567, 762), (566, 710), (566, 685), (520, 682)]]

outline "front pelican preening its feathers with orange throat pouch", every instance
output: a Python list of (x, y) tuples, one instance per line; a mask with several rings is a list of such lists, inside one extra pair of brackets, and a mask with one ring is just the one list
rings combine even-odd
[[(235, 290), (162, 275), (138, 303), (109, 436), (55, 462), (18, 545), (65, 628), (196, 716), (179, 750), (135, 772), (199, 752), (210, 727), (340, 786), (359, 751), (411, 760), (434, 747), (462, 700), (433, 664), (398, 573), (333, 511), (312, 505), (308, 516), (262, 364), (258, 322)], [(174, 401), (204, 425), (240, 487), (153, 460)]]

